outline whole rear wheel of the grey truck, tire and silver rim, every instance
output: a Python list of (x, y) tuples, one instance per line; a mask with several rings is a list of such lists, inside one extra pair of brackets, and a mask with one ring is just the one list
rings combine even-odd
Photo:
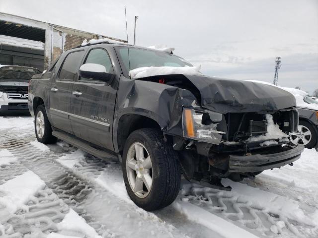
[(51, 123), (46, 115), (44, 105), (37, 107), (34, 119), (35, 135), (39, 142), (43, 144), (51, 144), (57, 141), (57, 138), (52, 135)]

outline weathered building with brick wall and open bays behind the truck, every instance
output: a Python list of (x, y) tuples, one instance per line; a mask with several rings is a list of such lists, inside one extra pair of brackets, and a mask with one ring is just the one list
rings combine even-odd
[(43, 71), (83, 40), (100, 38), (127, 42), (0, 12), (0, 64), (31, 66)]

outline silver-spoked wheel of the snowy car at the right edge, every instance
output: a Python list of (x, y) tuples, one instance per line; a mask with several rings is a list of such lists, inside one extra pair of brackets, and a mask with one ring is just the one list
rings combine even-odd
[(298, 131), (289, 133), (294, 144), (302, 144), (311, 149), (317, 144), (317, 133), (314, 126), (306, 120), (300, 120)]

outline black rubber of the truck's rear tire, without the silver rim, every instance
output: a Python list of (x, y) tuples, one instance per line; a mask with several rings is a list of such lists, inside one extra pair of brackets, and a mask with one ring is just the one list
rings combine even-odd
[[(42, 112), (43, 117), (44, 117), (44, 133), (43, 133), (42, 137), (40, 137), (38, 135), (37, 130), (36, 130), (36, 118), (37, 118), (37, 115), (39, 112)], [(36, 111), (35, 111), (34, 130), (35, 130), (36, 139), (43, 144), (53, 144), (57, 141), (57, 138), (52, 135), (51, 123), (46, 115), (44, 105), (38, 106)]]

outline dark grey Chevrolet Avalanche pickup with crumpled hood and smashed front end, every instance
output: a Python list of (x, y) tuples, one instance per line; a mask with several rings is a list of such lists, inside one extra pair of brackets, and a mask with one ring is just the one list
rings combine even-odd
[(298, 111), (269, 85), (204, 76), (171, 52), (84, 44), (33, 76), (29, 110), (38, 141), (57, 138), (122, 162), (130, 198), (146, 210), (176, 198), (181, 174), (205, 186), (293, 165)]

